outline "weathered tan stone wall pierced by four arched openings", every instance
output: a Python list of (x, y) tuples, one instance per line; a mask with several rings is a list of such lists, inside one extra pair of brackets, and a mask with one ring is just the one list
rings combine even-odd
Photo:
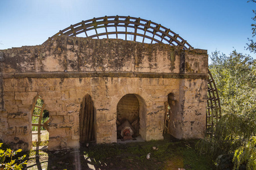
[(117, 141), (117, 104), (126, 94), (139, 100), (143, 139), (163, 139), (164, 103), (170, 93), (179, 108), (173, 113), (172, 135), (180, 139), (204, 135), (206, 50), (61, 36), (45, 46), (1, 52), (4, 142), (31, 147), (32, 104), (37, 95), (49, 111), (49, 149), (79, 147), (79, 111), (86, 94), (96, 110), (97, 143)]

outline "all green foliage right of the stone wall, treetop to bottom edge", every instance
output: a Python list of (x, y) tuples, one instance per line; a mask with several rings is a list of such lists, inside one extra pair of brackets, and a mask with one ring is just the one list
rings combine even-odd
[[(256, 61), (250, 56), (234, 50), (229, 56), (214, 52), (211, 56), (212, 65), (209, 69), (216, 81), (220, 96), (222, 117), (218, 121), (213, 138), (203, 139), (197, 143), (201, 153), (212, 155), (218, 167), (229, 165), (230, 155), (236, 160), (236, 169), (243, 163), (249, 163), (249, 157), (239, 156), (251, 138), (256, 135)], [(253, 165), (256, 165), (256, 160)]]

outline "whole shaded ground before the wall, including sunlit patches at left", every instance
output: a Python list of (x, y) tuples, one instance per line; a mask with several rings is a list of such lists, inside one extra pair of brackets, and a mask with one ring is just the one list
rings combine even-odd
[[(25, 169), (213, 169), (205, 156), (197, 154), (194, 144), (186, 141), (90, 143), (79, 150), (37, 150), (30, 152)], [(150, 159), (146, 158), (148, 153)]]

